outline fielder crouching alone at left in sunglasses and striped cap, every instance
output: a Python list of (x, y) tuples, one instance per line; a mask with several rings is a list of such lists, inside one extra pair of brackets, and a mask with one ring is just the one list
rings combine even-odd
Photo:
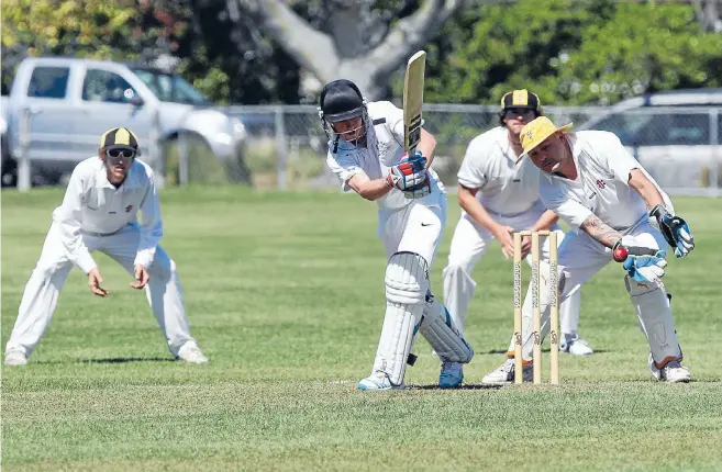
[[(23, 366), (53, 318), (65, 281), (77, 266), (98, 296), (109, 296), (90, 252), (115, 259), (145, 289), (170, 352), (192, 363), (208, 359), (190, 336), (176, 262), (158, 246), (163, 221), (153, 170), (136, 159), (138, 143), (124, 127), (100, 139), (98, 156), (78, 164), (25, 285), (18, 319), (5, 346), (5, 364)], [(138, 211), (143, 214), (137, 221)]]

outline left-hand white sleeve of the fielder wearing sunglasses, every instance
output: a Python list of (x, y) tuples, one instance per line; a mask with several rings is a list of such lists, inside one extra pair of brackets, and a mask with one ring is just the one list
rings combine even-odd
[(68, 258), (85, 273), (98, 267), (82, 240), (82, 205), (85, 204), (85, 182), (81, 171), (76, 168), (65, 190), (63, 203), (53, 212), (53, 220), (60, 228), (63, 246)]

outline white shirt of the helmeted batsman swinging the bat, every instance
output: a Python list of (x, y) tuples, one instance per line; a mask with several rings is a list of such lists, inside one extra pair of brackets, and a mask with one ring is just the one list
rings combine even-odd
[[(366, 123), (366, 147), (356, 147), (342, 137), (329, 142), (326, 165), (338, 176), (343, 191), (351, 190), (348, 180), (357, 173), (366, 173), (370, 180), (386, 178), (389, 168), (397, 165), (403, 155), (403, 110), (387, 101), (368, 103), (370, 123)], [(407, 199), (398, 189), (391, 189), (378, 199), (379, 210), (398, 210), (411, 202), (438, 205), (445, 189), (438, 176), (429, 169), (431, 193), (423, 199)]]

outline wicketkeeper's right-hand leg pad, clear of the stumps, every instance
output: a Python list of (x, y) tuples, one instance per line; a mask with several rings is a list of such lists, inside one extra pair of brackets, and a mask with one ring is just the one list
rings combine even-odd
[(624, 283), (657, 369), (662, 369), (671, 360), (681, 361), (682, 353), (664, 284), (640, 283), (629, 276), (624, 278)]

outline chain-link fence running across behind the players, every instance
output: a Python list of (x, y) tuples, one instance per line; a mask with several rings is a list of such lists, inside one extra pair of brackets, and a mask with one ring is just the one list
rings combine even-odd
[[(240, 120), (245, 137), (234, 157), (218, 159), (193, 135), (178, 135), (149, 146), (159, 182), (238, 183), (255, 188), (330, 189), (336, 178), (325, 165), (326, 136), (315, 106), (226, 106)], [(557, 125), (573, 122), (576, 130), (614, 132), (663, 189), (671, 194), (722, 195), (722, 108), (636, 109), (545, 108)], [(434, 169), (447, 189), (456, 188), (458, 171), (471, 138), (499, 124), (498, 108), (425, 104), (425, 127), (437, 141)], [(23, 115), (16, 149), (19, 187), (30, 188), (26, 153), (36, 130)], [(157, 131), (157, 130), (156, 130)], [(151, 135), (157, 133), (151, 131)], [(151, 139), (153, 141), (153, 139)], [(3, 166), (5, 159), (3, 157)], [(4, 170), (3, 170), (4, 171)], [(3, 175), (4, 179), (4, 175)]]

